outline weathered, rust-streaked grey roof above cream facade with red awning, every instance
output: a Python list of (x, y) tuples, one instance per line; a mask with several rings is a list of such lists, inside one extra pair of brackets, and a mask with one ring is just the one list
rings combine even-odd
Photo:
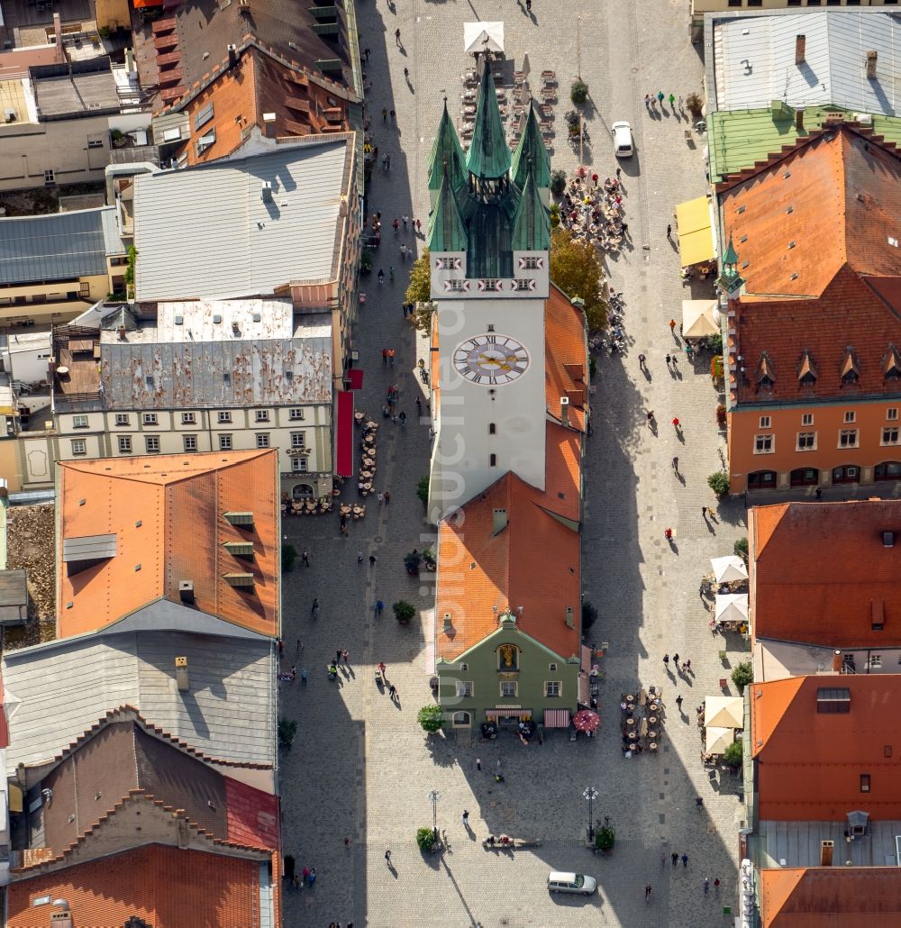
[(330, 403), (331, 342), (103, 344), (100, 385), (107, 409)]

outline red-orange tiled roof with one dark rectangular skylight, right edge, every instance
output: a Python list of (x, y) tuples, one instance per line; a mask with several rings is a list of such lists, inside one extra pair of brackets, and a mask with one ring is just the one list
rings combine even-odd
[[(848, 713), (817, 712), (817, 690), (850, 691)], [(762, 820), (836, 821), (857, 808), (901, 818), (901, 676), (790, 677), (751, 685), (751, 743)], [(870, 792), (860, 792), (860, 775)]]

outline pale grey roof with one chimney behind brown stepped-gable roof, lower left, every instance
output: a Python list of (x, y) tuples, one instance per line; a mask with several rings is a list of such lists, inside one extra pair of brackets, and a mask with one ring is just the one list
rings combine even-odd
[[(176, 656), (187, 657), (187, 693), (175, 685)], [(274, 674), (271, 642), (262, 637), (110, 630), (7, 651), (6, 772), (55, 757), (122, 705), (203, 754), (271, 766)]]

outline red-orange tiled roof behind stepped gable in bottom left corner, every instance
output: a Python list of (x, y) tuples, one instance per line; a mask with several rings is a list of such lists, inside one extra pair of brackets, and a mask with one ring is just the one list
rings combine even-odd
[(11, 883), (6, 925), (47, 928), (54, 909), (32, 903), (49, 896), (91, 928), (122, 928), (132, 916), (151, 928), (247, 928), (260, 923), (259, 883), (256, 860), (148, 844)]

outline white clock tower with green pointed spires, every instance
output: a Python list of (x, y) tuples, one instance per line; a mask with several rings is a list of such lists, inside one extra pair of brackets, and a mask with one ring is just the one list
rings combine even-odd
[(550, 162), (531, 106), (511, 157), (482, 67), (469, 151), (445, 102), (429, 167), (433, 522), (508, 471), (545, 488)]

